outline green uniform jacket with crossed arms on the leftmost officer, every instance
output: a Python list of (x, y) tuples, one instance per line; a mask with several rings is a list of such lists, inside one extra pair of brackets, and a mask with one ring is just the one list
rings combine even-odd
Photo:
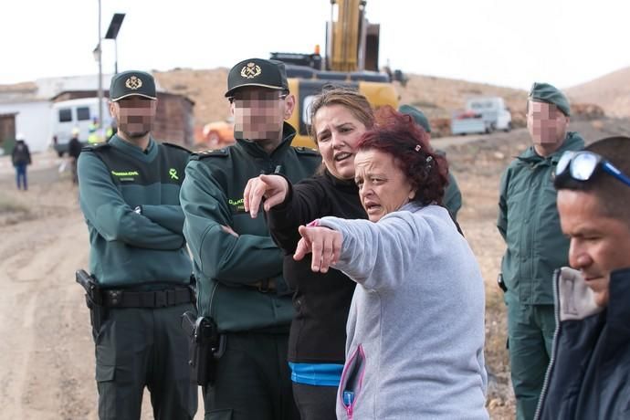
[[(190, 153), (152, 139), (146, 152), (113, 136), (79, 155), (89, 269), (106, 288), (189, 284), (179, 190)], [(134, 211), (141, 206), (142, 214)]]

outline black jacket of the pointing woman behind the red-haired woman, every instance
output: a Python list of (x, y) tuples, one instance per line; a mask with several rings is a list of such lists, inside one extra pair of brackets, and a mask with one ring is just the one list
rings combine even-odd
[(365, 219), (367, 215), (353, 180), (339, 180), (328, 173), (289, 183), (284, 203), (268, 212), (271, 236), (285, 252), (284, 276), (295, 291), (296, 314), (289, 333), (289, 362), (343, 363), (346, 321), (356, 283), (341, 271), (310, 270), (310, 255), (295, 261), (298, 226), (326, 215)]

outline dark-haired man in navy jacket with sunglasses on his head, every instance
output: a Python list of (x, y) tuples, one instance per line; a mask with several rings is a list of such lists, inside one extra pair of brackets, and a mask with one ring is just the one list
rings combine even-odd
[(575, 269), (556, 278), (560, 323), (537, 418), (628, 418), (630, 138), (565, 152), (554, 184)]

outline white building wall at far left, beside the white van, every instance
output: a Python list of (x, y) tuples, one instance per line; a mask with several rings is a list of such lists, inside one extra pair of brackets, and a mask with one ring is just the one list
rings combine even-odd
[(31, 152), (45, 151), (51, 142), (50, 102), (0, 103), (0, 114), (16, 114), (16, 134), (24, 134)]

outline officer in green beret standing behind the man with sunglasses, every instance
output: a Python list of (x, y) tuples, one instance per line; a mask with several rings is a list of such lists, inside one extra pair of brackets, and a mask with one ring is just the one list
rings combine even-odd
[(536, 411), (555, 330), (553, 271), (569, 263), (552, 178), (562, 153), (584, 146), (579, 134), (567, 131), (569, 115), (560, 90), (534, 83), (527, 107), (533, 145), (509, 164), (500, 183), (497, 226), (507, 244), (501, 270), (519, 420)]

